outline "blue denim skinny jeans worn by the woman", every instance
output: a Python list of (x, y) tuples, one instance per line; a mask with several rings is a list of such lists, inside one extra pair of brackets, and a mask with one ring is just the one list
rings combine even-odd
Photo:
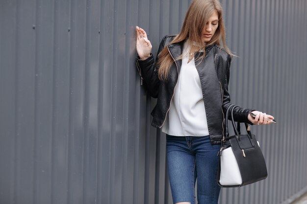
[(209, 136), (166, 135), (168, 174), (174, 204), (195, 204), (197, 179), (198, 204), (217, 204), (220, 187), (217, 185), (221, 145), (210, 142)]

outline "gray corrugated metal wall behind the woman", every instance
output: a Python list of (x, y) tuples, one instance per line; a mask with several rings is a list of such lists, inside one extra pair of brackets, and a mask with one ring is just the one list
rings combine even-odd
[[(0, 204), (170, 204), (165, 137), (135, 68), (134, 26), (178, 33), (185, 0), (0, 0)], [(307, 2), (223, 0), (232, 101), (269, 177), (220, 204), (289, 204), (307, 191)]]

